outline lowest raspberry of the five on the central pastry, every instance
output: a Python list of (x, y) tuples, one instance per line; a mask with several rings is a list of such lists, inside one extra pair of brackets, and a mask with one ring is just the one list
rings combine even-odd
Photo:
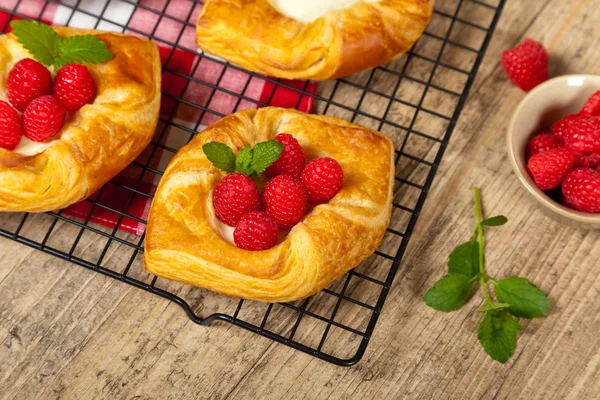
[(244, 250), (267, 250), (277, 244), (277, 224), (266, 212), (252, 211), (242, 217), (233, 231), (233, 241)]

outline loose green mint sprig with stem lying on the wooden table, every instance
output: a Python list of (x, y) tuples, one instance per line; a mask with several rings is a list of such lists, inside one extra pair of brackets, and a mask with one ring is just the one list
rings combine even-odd
[[(523, 328), (513, 318), (541, 318), (550, 312), (550, 303), (535, 285), (525, 278), (507, 278), (496, 281), (484, 269), (484, 227), (502, 226), (506, 217), (499, 215), (483, 220), (479, 188), (475, 188), (477, 227), (470, 241), (456, 247), (448, 260), (448, 275), (439, 280), (425, 294), (428, 306), (440, 311), (460, 309), (468, 300), (475, 282), (481, 283), (485, 296), (484, 313), (477, 338), (485, 351), (496, 361), (505, 363), (517, 346), (517, 332)], [(488, 290), (494, 287), (495, 301)]]

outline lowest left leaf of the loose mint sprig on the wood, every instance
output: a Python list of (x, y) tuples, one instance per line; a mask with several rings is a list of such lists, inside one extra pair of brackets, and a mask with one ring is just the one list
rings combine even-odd
[(471, 294), (473, 283), (462, 274), (446, 275), (425, 294), (423, 299), (431, 308), (440, 311), (458, 310)]

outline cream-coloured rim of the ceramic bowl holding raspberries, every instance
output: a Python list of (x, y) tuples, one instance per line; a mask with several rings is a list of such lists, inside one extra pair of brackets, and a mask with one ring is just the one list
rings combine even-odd
[[(515, 123), (517, 120), (517, 116), (520, 115), (525, 104), (529, 103), (529, 101), (531, 101), (531, 99), (533, 97), (535, 97), (539, 92), (542, 92), (542, 91), (548, 89), (550, 86), (556, 84), (556, 82), (569, 80), (572, 78), (590, 78), (593, 80), (598, 80), (598, 82), (600, 83), (600, 75), (569, 74), (569, 75), (561, 75), (561, 76), (557, 76), (555, 78), (549, 79), (549, 80), (541, 83), (540, 85), (536, 86), (535, 88), (533, 88), (529, 93), (527, 93), (525, 95), (525, 97), (523, 97), (523, 99), (521, 99), (521, 101), (515, 108), (515, 111), (513, 112), (512, 117), (510, 119), (508, 129), (506, 130), (506, 144), (507, 144), (508, 156), (509, 156), (508, 158), (510, 160), (512, 169), (515, 172), (515, 175), (517, 175), (517, 177), (519, 178), (519, 181), (521, 182), (521, 184), (525, 187), (525, 189), (527, 189), (529, 194), (531, 194), (544, 207), (550, 209), (551, 211), (553, 211), (563, 217), (566, 217), (566, 218), (569, 218), (572, 220), (600, 225), (600, 213), (598, 213), (598, 214), (586, 213), (583, 211), (578, 211), (578, 210), (569, 208), (567, 206), (564, 206), (564, 205), (558, 203), (557, 201), (551, 199), (550, 197), (548, 197), (548, 195), (546, 193), (544, 193), (540, 188), (538, 188), (535, 184), (530, 183), (529, 180), (531, 180), (531, 177), (529, 177), (529, 174), (527, 173), (526, 168), (524, 171), (521, 170), (521, 168), (519, 168), (519, 165), (517, 164), (517, 154), (515, 154), (515, 151), (513, 151), (513, 136), (514, 136), (513, 133), (515, 130)], [(525, 154), (525, 153), (523, 152), (523, 154)], [(525, 165), (526, 165), (526, 163), (525, 163)], [(525, 174), (527, 174), (527, 176), (525, 176)]]

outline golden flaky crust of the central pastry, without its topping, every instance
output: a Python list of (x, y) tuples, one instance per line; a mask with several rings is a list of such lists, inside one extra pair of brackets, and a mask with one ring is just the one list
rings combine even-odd
[[(278, 133), (293, 135), (307, 159), (336, 159), (344, 170), (343, 187), (275, 247), (242, 250), (218, 233), (212, 192), (224, 174), (202, 146), (217, 141), (237, 153)], [(225, 117), (198, 134), (167, 167), (150, 209), (144, 268), (250, 300), (285, 302), (315, 294), (379, 246), (391, 216), (393, 155), (385, 136), (336, 118), (272, 107)]]

